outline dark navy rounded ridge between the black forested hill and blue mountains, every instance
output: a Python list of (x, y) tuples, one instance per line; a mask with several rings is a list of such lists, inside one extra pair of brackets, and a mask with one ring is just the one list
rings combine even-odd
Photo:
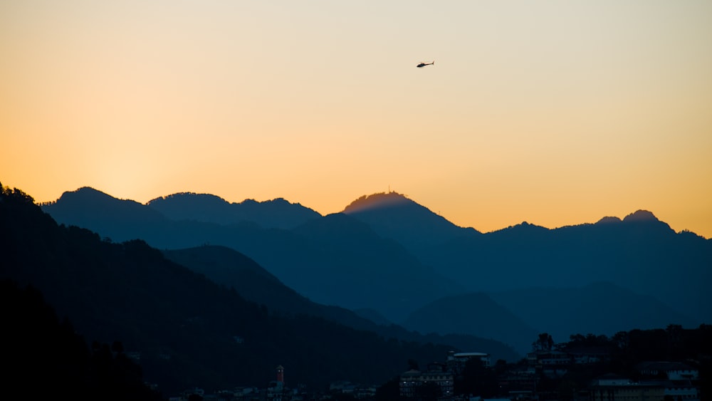
[[(396, 326), (382, 316), (376, 318), (377, 323), (374, 323), (345, 308), (314, 303), (285, 286), (252, 259), (224, 246), (199, 246), (164, 251), (164, 255), (178, 264), (204, 274), (216, 283), (234, 288), (248, 301), (265, 305), (270, 311), (281, 316), (317, 316), (358, 330), (372, 331), (384, 338), (397, 338), (417, 343), (447, 343), (463, 350), (486, 352), (496, 359), (513, 361), (523, 355), (498, 340), (477, 338), (473, 335), (460, 335), (448, 340), (440, 335), (420, 335)], [(377, 312), (373, 311), (371, 315), (373, 314)]]

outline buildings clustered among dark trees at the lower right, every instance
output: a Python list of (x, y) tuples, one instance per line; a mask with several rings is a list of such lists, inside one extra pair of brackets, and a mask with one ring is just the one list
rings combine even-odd
[[(508, 365), (496, 376), (498, 400), (529, 401), (699, 401), (698, 370), (679, 362), (643, 362), (635, 367), (634, 377), (602, 375), (569, 390), (542, 388), (541, 380), (557, 382), (570, 370), (586, 370), (587, 365), (611, 360), (607, 348), (574, 348), (547, 350), (527, 355), (526, 363)], [(400, 375), (400, 395), (412, 400), (429, 396), (438, 389), (438, 400), (481, 401), (476, 395), (456, 395), (454, 382), (469, 360), (476, 359), (484, 368), (491, 368), (485, 353), (449, 353), (446, 363), (429, 364), (424, 371), (408, 370)], [(567, 394), (562, 394), (567, 391)], [(484, 400), (487, 401), (487, 400)]]

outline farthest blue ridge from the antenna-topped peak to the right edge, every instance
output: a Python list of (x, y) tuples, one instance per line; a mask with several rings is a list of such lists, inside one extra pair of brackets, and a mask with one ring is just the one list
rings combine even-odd
[(675, 233), (646, 210), (596, 224), (548, 229), (523, 222), (486, 234), (395, 192), (360, 197), (344, 213), (470, 291), (609, 281), (659, 298), (698, 324), (712, 321), (712, 239)]

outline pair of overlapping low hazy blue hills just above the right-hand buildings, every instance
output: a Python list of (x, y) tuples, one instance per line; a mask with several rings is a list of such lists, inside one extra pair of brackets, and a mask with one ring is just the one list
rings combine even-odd
[(464, 333), (496, 338), (523, 355), (538, 333), (557, 341), (572, 334), (666, 327), (693, 328), (696, 319), (675, 311), (654, 296), (645, 296), (610, 282), (574, 288), (522, 288), (497, 293), (446, 296), (411, 313), (403, 326), (437, 333)]

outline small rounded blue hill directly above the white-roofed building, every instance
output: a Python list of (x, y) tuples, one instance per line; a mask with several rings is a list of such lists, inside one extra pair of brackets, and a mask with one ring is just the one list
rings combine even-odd
[(446, 296), (408, 316), (403, 326), (421, 333), (459, 333), (496, 338), (512, 345), (522, 355), (531, 348), (540, 331), (529, 326), (485, 293)]

